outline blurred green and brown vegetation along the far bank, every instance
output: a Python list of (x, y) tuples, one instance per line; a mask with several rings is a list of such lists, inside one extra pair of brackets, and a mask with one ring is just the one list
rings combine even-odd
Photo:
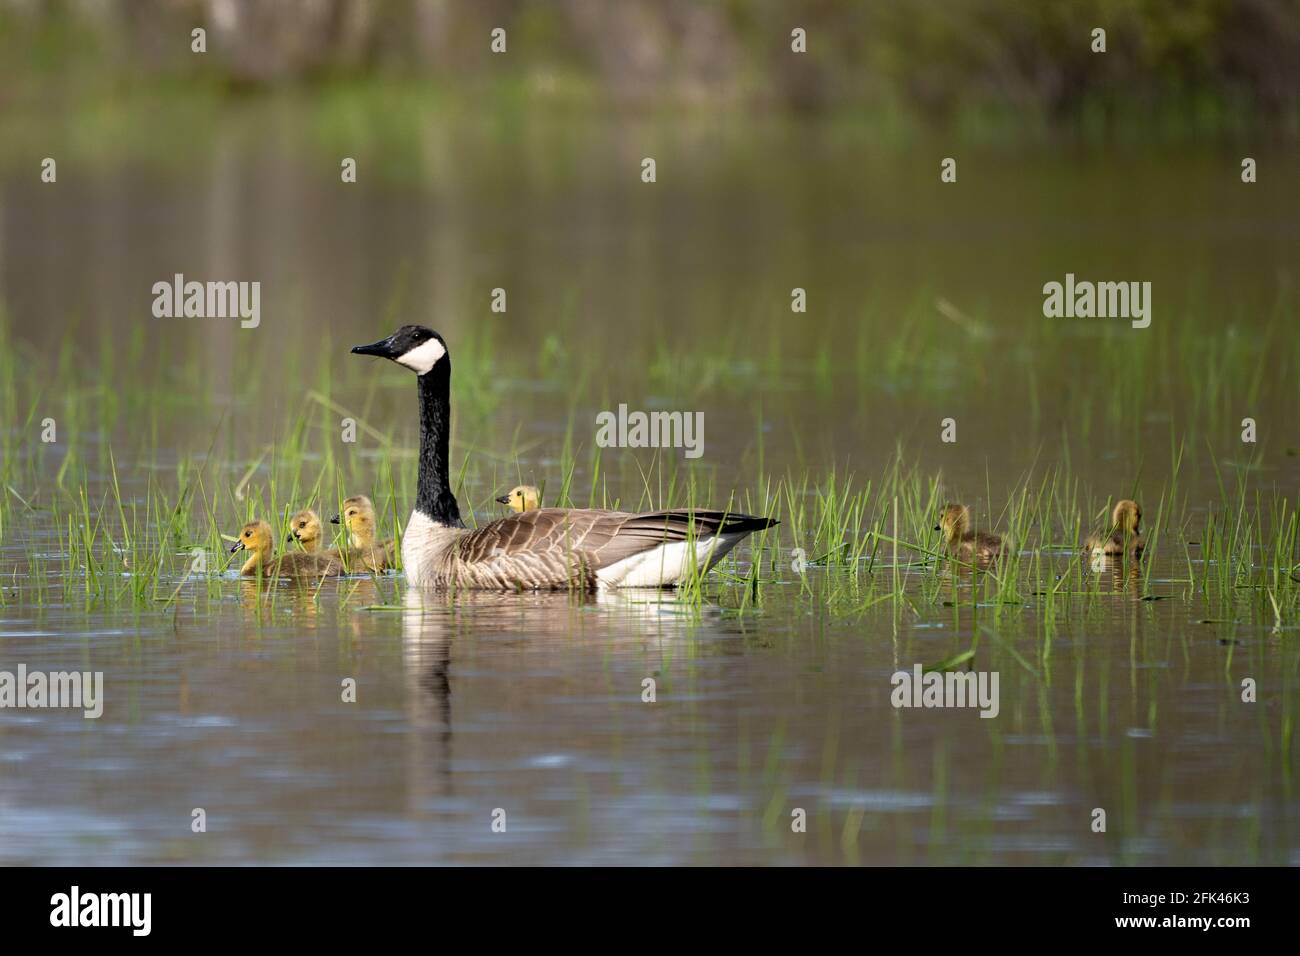
[(1162, 131), (1290, 139), (1300, 0), (0, 0), (0, 109), (326, 81), (480, 105), (742, 105), (1011, 131), (1158, 118)]

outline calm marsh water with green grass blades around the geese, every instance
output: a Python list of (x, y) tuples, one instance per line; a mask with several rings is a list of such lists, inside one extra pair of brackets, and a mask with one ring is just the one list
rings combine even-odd
[[(1297, 585), (1261, 576), (1275, 536), (1221, 589), (1202, 553), (1239, 506), (1264, 532), (1294, 522), (1294, 152), (1251, 146), (1265, 172), (1245, 185), (1240, 144), (391, 122), (254, 104), (131, 117), (96, 150), (55, 120), (5, 138), (0, 670), (103, 671), (105, 706), (0, 711), (0, 860), (1300, 864)], [(40, 142), (66, 156), (57, 183), (17, 156)], [(155, 319), (176, 273), (260, 281), (260, 324)], [(1045, 317), (1067, 273), (1152, 282), (1150, 326)], [(348, 355), (404, 321), (447, 338), (474, 520), (520, 480), (628, 509), (694, 481), (781, 509), (757, 597), (748, 546), (698, 601), (239, 580), (209, 525), (328, 514), (335, 473), (387, 533), (406, 519), (412, 380)], [(705, 454), (594, 458), (594, 415), (619, 403), (702, 411)], [(876, 497), (896, 460), (982, 527), (1044, 480), (1087, 529), (1138, 497), (1150, 554), (1136, 575), (1080, 568), (1080, 528), (1043, 507), (1009, 597), (936, 567), (928, 522), (890, 501), (906, 490)], [(164, 535), (150, 503), (196, 473)], [(790, 514), (818, 514), (832, 475), (875, 489), (870, 512)], [(134, 537), (104, 531), (91, 568), (69, 557), (83, 524)], [(819, 559), (863, 527), (920, 548)], [(144, 598), (113, 597), (142, 540), (170, 558)], [(996, 718), (890, 705), (894, 671), (971, 648), (1000, 675)]]

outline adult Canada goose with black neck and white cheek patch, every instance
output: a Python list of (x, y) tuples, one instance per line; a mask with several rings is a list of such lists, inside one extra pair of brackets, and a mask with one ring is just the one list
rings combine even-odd
[(598, 509), (521, 511), (476, 531), (447, 484), (451, 358), (442, 336), (403, 325), (359, 345), (413, 371), (420, 397), (420, 473), (402, 538), (407, 580), (420, 587), (550, 589), (671, 587), (692, 564), (707, 570), (745, 536), (776, 522), (716, 510), (629, 514)]

